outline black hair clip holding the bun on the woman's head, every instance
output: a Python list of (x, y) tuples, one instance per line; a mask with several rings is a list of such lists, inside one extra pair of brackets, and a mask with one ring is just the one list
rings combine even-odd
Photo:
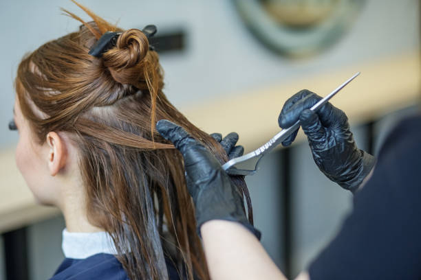
[[(147, 25), (142, 30), (148, 39), (155, 35), (156, 31), (157, 29), (155, 25)], [(91, 47), (91, 49), (89, 49), (88, 54), (95, 56), (96, 58), (102, 57), (102, 54), (116, 45), (118, 36), (120, 36), (121, 33), (122, 32), (105, 32)], [(149, 49), (152, 51), (155, 50), (152, 45), (149, 45)]]

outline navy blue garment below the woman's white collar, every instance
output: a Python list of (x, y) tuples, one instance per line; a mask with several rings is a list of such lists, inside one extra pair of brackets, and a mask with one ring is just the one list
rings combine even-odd
[[(170, 261), (166, 261), (169, 279), (180, 279)], [(86, 259), (66, 258), (50, 280), (128, 280), (120, 261), (114, 255), (100, 253)]]

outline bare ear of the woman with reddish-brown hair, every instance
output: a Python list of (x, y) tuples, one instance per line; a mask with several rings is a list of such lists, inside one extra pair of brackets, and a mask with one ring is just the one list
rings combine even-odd
[(63, 138), (56, 132), (48, 132), (47, 134), (48, 145), (48, 168), (50, 175), (56, 174), (65, 166), (67, 159), (67, 148)]

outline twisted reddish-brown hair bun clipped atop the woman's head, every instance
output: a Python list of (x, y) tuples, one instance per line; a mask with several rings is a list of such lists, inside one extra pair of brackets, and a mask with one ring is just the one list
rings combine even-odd
[(133, 84), (142, 73), (137, 68), (141, 67), (140, 62), (144, 60), (148, 50), (147, 36), (140, 30), (131, 29), (118, 36), (116, 47), (106, 51), (102, 59), (114, 80), (122, 84)]

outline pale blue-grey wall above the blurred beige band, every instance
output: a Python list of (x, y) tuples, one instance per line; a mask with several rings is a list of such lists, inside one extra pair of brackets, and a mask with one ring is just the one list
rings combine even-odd
[[(180, 108), (301, 75), (334, 71), (361, 60), (400, 54), (419, 45), (417, 0), (368, 0), (352, 29), (336, 45), (319, 56), (298, 61), (263, 48), (241, 23), (231, 1), (125, 0), (124, 5), (118, 5), (109, 0), (85, 0), (82, 3), (111, 22), (119, 20), (124, 28), (154, 23), (158, 30), (175, 27), (186, 30), (186, 50), (163, 56), (161, 60), (166, 73), (166, 95)], [(3, 54), (0, 145), (17, 139), (4, 130), (12, 115), (12, 79), (21, 57), (45, 41), (78, 27), (78, 22), (63, 16), (59, 7), (87, 19), (67, 0), (0, 3), (1, 25), (13, 26), (3, 30), (3, 38), (12, 38), (10, 43), (0, 46)]]

